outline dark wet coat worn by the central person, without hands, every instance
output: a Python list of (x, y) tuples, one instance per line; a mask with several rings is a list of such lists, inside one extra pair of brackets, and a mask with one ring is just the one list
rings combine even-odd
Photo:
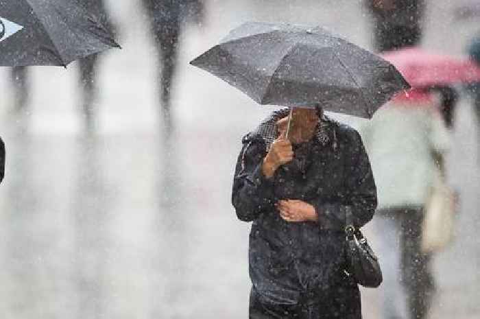
[[(232, 204), (239, 220), (253, 222), (254, 290), (263, 302), (278, 305), (341, 300), (337, 304), (346, 307), (339, 318), (361, 318), (357, 285), (344, 275), (344, 227), (347, 206), (357, 226), (370, 221), (376, 209), (368, 156), (357, 131), (324, 117), (315, 137), (294, 148), (295, 160), (265, 178), (261, 165), (278, 134), (275, 122), (287, 113), (274, 113), (243, 138), (235, 169)], [(285, 222), (274, 206), (280, 199), (309, 202), (319, 222)]]

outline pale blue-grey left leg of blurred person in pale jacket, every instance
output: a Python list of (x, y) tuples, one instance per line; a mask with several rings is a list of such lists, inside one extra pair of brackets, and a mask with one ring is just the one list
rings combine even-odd
[[(407, 319), (405, 290), (400, 283), (400, 220), (398, 211), (376, 213), (372, 226), (379, 239), (375, 248), (380, 257), (383, 283), (378, 288), (382, 319)], [(401, 213), (401, 212), (400, 212)]]

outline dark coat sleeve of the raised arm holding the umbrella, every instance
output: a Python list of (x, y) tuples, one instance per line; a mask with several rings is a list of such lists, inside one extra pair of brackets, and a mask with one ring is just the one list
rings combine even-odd
[(258, 141), (243, 139), (243, 147), (235, 167), (232, 204), (237, 217), (252, 222), (274, 206), (273, 180), (262, 172), (265, 146)]

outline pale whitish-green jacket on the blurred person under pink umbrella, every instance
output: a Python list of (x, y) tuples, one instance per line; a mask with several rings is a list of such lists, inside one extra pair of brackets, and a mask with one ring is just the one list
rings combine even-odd
[(438, 173), (433, 151), (444, 154), (450, 143), (433, 102), (389, 102), (365, 123), (361, 133), (372, 165), (379, 209), (424, 206)]

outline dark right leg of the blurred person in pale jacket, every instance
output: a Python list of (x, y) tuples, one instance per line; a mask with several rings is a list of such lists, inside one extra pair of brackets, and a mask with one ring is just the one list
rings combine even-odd
[(402, 215), (402, 279), (411, 319), (427, 318), (434, 294), (431, 255), (420, 250), (423, 217), (423, 209), (409, 209)]

